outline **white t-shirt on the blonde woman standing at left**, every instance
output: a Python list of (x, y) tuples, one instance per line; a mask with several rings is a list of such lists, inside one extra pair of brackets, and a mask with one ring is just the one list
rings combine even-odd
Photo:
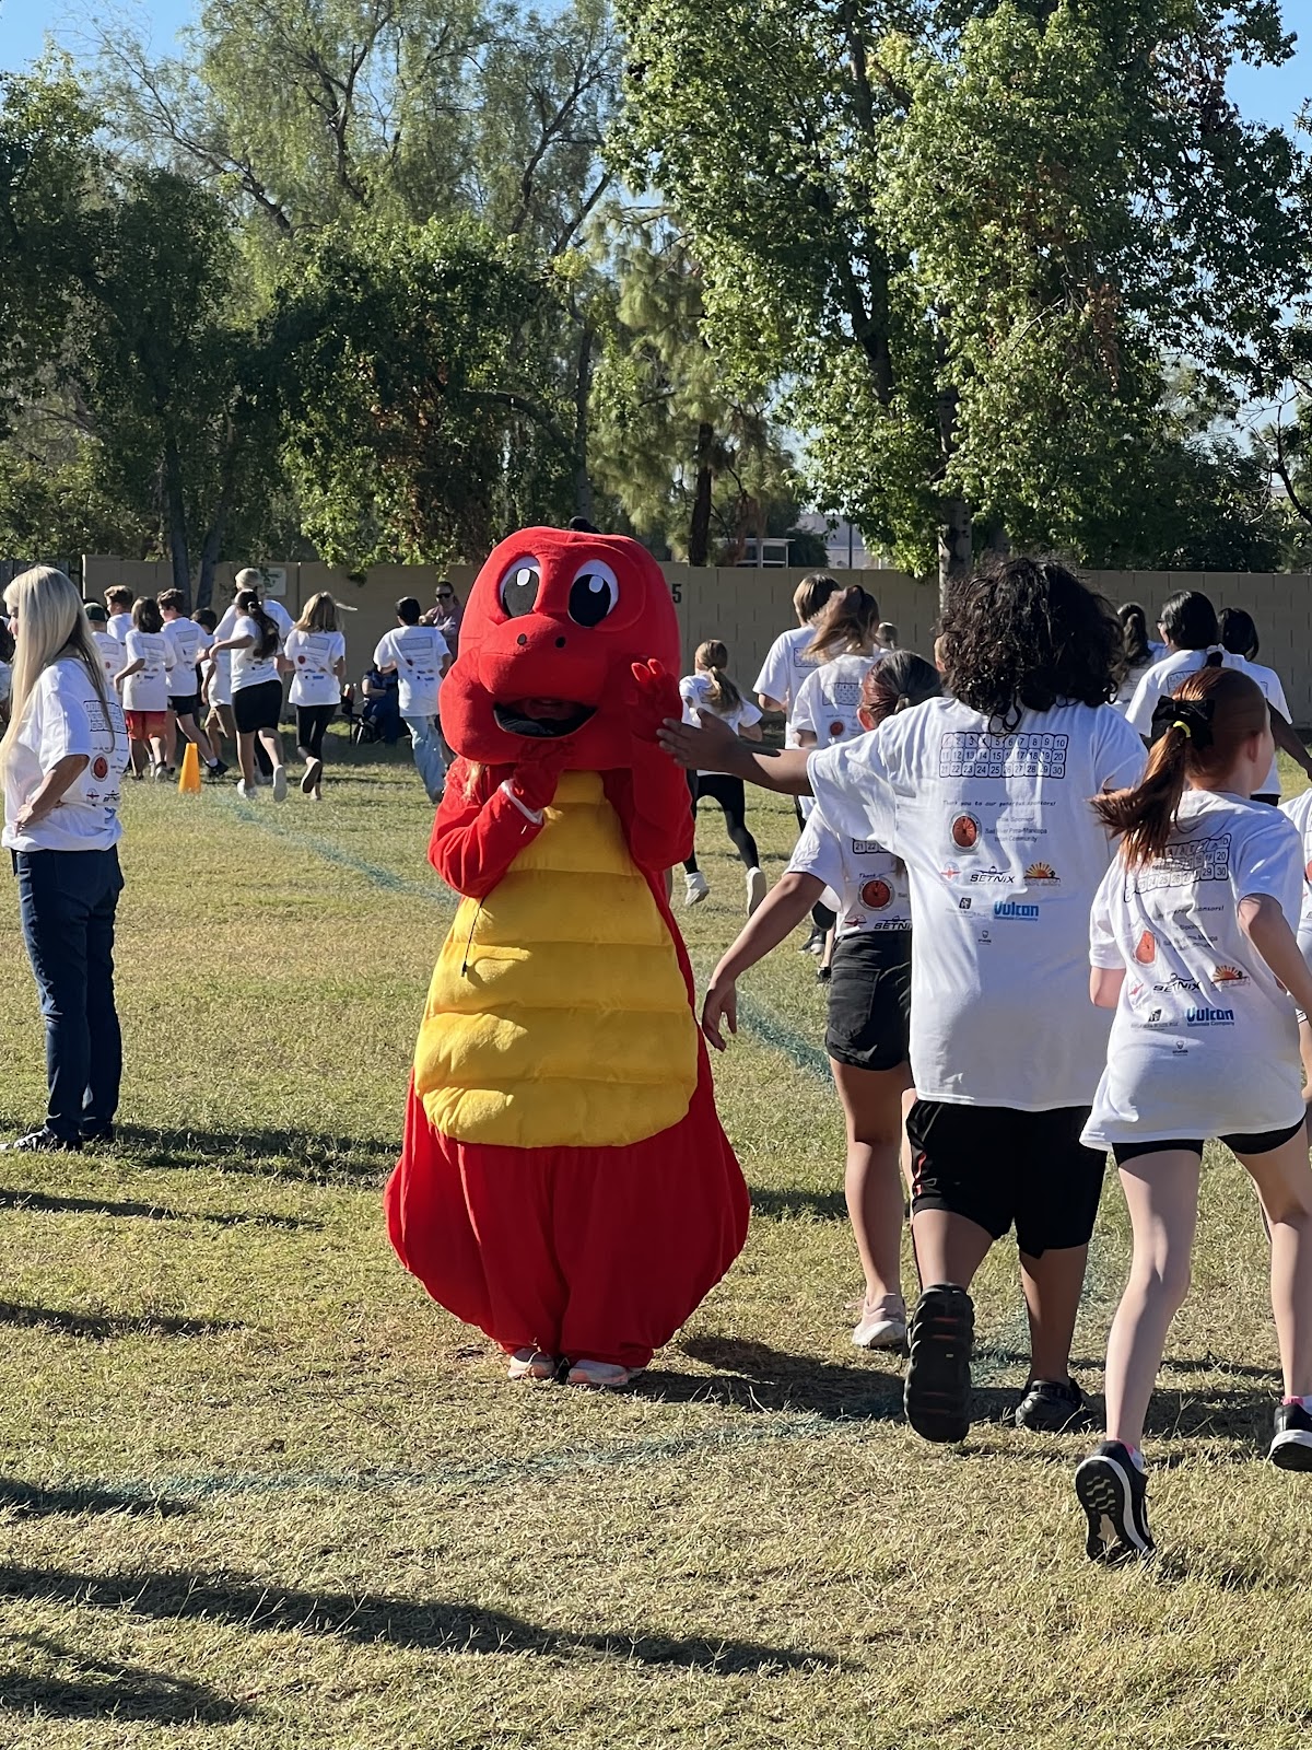
[[(65, 656), (40, 676), (5, 766), (9, 850), (108, 850), (122, 836), (119, 789), (128, 765), (128, 724), (110, 693), (108, 709), (80, 662)], [(26, 831), (14, 821), (45, 774), (68, 754), (87, 763), (54, 808)]]

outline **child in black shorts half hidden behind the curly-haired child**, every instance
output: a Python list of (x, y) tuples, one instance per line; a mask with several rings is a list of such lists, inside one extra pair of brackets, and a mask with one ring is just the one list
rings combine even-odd
[[(861, 723), (873, 730), (941, 691), (931, 663), (915, 651), (897, 651), (866, 670)], [(906, 1340), (897, 1157), (903, 1094), (911, 1085), (911, 900), (901, 863), (873, 840), (840, 836), (813, 810), (782, 880), (712, 973), (701, 1031), (724, 1050), (721, 1020), (729, 1032), (738, 1031), (738, 978), (778, 947), (826, 891), (838, 894), (841, 910), (824, 1045), (847, 1120), (847, 1213), (866, 1278), (852, 1342), (894, 1349)]]

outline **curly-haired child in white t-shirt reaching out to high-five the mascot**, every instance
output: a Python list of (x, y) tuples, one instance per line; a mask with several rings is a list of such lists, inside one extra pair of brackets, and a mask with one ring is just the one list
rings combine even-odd
[(1071, 1339), (1106, 1157), (1081, 1143), (1107, 1018), (1085, 1001), (1088, 908), (1111, 859), (1088, 807), (1135, 784), (1144, 747), (1114, 710), (1121, 628), (1055, 560), (1009, 558), (957, 583), (945, 690), (855, 742), (754, 756), (714, 719), (666, 723), (680, 765), (813, 793), (829, 826), (908, 868), (911, 1237), (924, 1292), (906, 1416), (927, 1440), (971, 1426), (969, 1288), (1015, 1227), (1030, 1321), (1016, 1424), (1088, 1412)]

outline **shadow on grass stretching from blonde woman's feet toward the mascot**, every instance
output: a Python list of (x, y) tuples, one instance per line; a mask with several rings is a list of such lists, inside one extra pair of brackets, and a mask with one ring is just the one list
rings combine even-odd
[(212, 1167), (308, 1185), (381, 1185), (401, 1146), (388, 1138), (320, 1136), (313, 1130), (138, 1130), (119, 1127), (115, 1152), (136, 1167)]

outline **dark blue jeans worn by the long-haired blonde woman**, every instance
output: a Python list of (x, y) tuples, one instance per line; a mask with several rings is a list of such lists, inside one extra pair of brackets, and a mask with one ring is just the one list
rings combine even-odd
[(122, 892), (119, 852), (17, 850), (23, 942), (45, 1017), (45, 1124), (72, 1141), (112, 1124), (122, 1080), (114, 1010), (114, 912)]

